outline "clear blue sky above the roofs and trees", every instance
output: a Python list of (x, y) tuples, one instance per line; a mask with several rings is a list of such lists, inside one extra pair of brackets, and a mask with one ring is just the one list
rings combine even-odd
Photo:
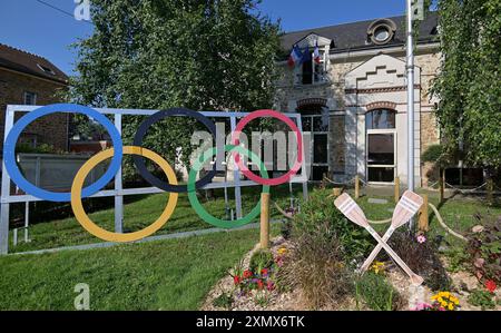
[[(72, 13), (73, 0), (39, 0)], [(92, 26), (38, 0), (0, 0), (0, 42), (40, 55), (71, 75), (70, 45), (92, 32)], [(285, 31), (403, 14), (405, 0), (264, 0), (264, 13), (282, 19)]]

